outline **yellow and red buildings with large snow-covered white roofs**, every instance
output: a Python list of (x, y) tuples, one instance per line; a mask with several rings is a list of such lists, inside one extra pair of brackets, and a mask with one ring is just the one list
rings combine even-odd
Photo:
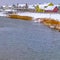
[(38, 4), (35, 7), (36, 12), (58, 12), (58, 6), (53, 3)]

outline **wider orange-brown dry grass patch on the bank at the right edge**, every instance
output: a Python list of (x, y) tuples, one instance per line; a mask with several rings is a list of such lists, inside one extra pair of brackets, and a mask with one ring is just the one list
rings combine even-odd
[(48, 26), (49, 28), (59, 30), (60, 31), (60, 21), (50, 19), (50, 18), (42, 18), (41, 23)]

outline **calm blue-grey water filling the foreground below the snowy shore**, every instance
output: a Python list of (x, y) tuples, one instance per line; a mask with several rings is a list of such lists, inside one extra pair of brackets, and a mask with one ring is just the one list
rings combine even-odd
[(0, 17), (0, 60), (60, 60), (60, 32)]

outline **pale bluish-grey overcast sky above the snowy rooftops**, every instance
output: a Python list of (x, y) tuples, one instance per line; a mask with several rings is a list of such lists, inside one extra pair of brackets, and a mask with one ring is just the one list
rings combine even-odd
[(0, 5), (6, 4), (17, 4), (17, 3), (29, 3), (29, 4), (36, 4), (36, 3), (47, 3), (53, 2), (55, 4), (59, 4), (60, 0), (0, 0)]

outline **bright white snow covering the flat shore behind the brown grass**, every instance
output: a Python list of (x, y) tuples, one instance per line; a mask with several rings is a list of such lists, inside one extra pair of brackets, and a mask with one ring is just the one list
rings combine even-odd
[[(32, 13), (32, 12), (20, 12), (17, 13), (21, 16), (31, 16), (33, 18), (52, 18), (60, 21), (60, 14), (58, 13)], [(0, 16), (6, 16), (3, 12), (0, 12)]]

